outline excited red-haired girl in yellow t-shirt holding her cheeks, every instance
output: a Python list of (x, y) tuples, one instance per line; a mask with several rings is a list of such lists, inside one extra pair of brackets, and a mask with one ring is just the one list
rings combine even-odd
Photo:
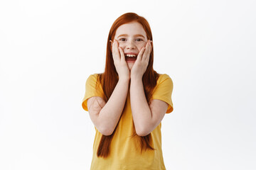
[(105, 72), (91, 74), (82, 108), (95, 125), (90, 169), (166, 169), (161, 120), (173, 111), (173, 82), (153, 69), (149, 23), (136, 13), (114, 21)]

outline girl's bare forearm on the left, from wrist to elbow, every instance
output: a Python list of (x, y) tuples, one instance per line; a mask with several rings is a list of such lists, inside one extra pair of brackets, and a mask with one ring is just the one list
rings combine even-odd
[(98, 121), (100, 121), (101, 127), (104, 127), (105, 132), (109, 135), (114, 131), (122, 114), (124, 103), (127, 99), (128, 86), (129, 79), (119, 80), (109, 100), (100, 111)]

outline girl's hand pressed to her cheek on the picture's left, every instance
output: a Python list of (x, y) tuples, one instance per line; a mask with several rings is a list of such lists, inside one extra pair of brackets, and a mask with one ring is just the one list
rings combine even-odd
[(117, 40), (114, 40), (112, 44), (112, 56), (119, 79), (130, 79), (130, 71), (125, 61), (124, 51), (119, 47)]

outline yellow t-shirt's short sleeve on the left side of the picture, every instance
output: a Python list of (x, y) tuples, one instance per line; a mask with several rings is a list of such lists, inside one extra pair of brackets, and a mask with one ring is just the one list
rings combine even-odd
[(88, 111), (87, 99), (93, 96), (100, 96), (104, 98), (102, 86), (97, 81), (98, 74), (91, 74), (85, 83), (85, 96), (82, 98), (82, 108)]

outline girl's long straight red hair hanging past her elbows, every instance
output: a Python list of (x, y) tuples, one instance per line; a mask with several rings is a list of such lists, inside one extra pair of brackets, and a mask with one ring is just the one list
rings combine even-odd
[[(142, 24), (142, 27), (144, 28), (146, 32), (146, 37), (148, 40), (153, 40), (152, 38), (152, 33), (151, 33), (151, 28), (149, 26), (149, 23), (146, 21), (146, 19), (142, 16), (138, 16), (136, 13), (124, 13), (122, 16), (119, 16), (116, 21), (112, 24), (112, 27), (110, 28), (110, 33), (107, 38), (107, 54), (106, 54), (106, 65), (105, 65), (105, 72), (102, 74), (99, 74), (98, 81), (100, 81), (100, 84), (102, 84), (102, 89), (105, 94), (105, 101), (107, 102), (108, 99), (110, 98), (112, 92), (114, 91), (114, 87), (117, 85), (118, 81), (118, 74), (117, 71), (114, 67), (114, 60), (112, 57), (112, 50), (111, 50), (111, 42), (114, 41), (114, 35), (117, 31), (117, 28), (119, 26), (122, 26), (125, 23), (131, 23), (131, 22), (138, 22)], [(159, 74), (154, 71), (153, 69), (153, 59), (154, 59), (154, 52), (153, 48), (151, 50), (151, 54), (149, 57), (149, 64), (148, 67), (146, 68), (146, 72), (144, 73), (142, 77), (142, 81), (144, 84), (144, 93), (146, 96), (146, 101), (149, 103), (149, 100), (152, 95), (152, 91), (154, 87), (156, 86), (156, 81), (159, 77)], [(121, 115), (122, 116), (122, 115)], [(118, 123), (117, 123), (118, 125)], [(102, 135), (102, 138), (100, 140), (100, 145), (97, 149), (97, 157), (104, 157), (106, 158), (108, 154), (110, 153), (110, 143), (112, 140), (112, 137), (114, 135), (114, 132), (116, 128), (114, 129), (112, 135)], [(137, 136), (136, 132), (132, 135)], [(151, 133), (146, 136), (141, 136), (139, 137), (140, 139), (140, 147), (141, 147), (141, 152), (146, 149), (154, 149), (151, 147), (150, 142), (151, 142)]]

